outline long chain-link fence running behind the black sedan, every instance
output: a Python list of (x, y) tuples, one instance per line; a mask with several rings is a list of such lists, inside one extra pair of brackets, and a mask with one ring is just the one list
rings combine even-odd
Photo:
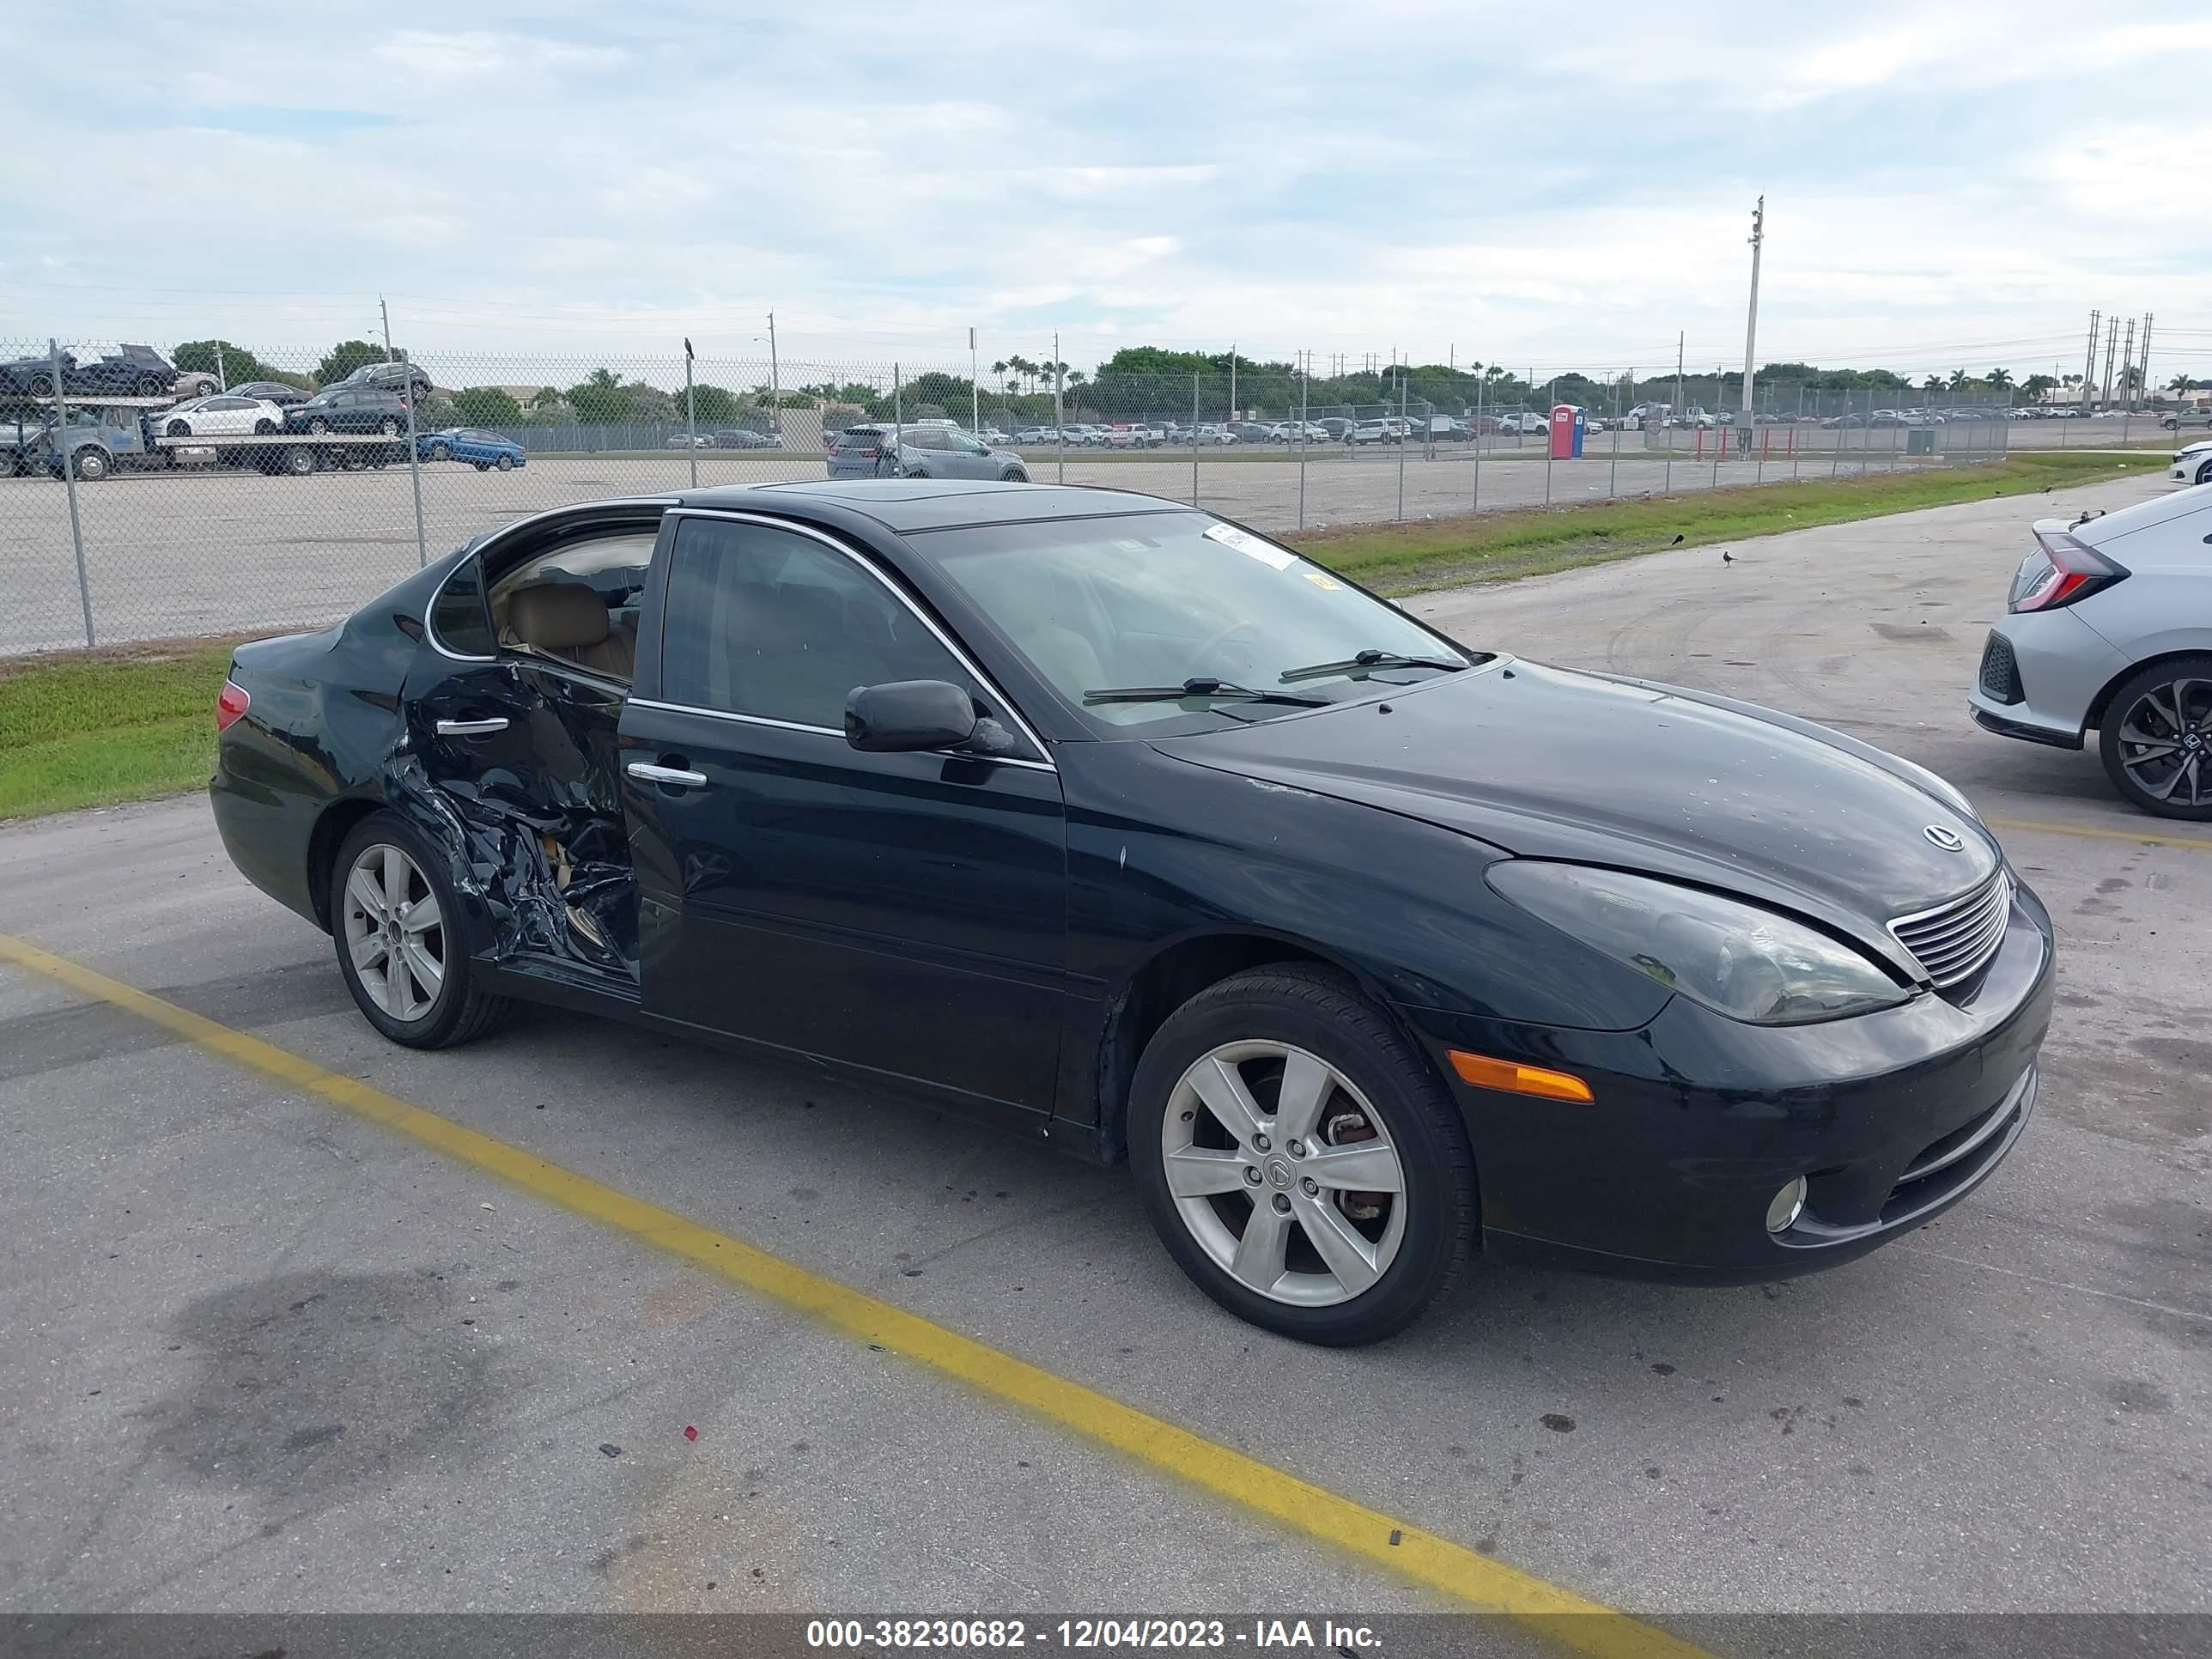
[[(0, 657), (327, 624), (564, 502), (849, 473), (1110, 484), (1276, 533), (2126, 445), (1902, 383), (1197, 374), (0, 341)], [(1566, 409), (1555, 420), (1555, 409)], [(1577, 420), (1579, 416), (1579, 420)]]

